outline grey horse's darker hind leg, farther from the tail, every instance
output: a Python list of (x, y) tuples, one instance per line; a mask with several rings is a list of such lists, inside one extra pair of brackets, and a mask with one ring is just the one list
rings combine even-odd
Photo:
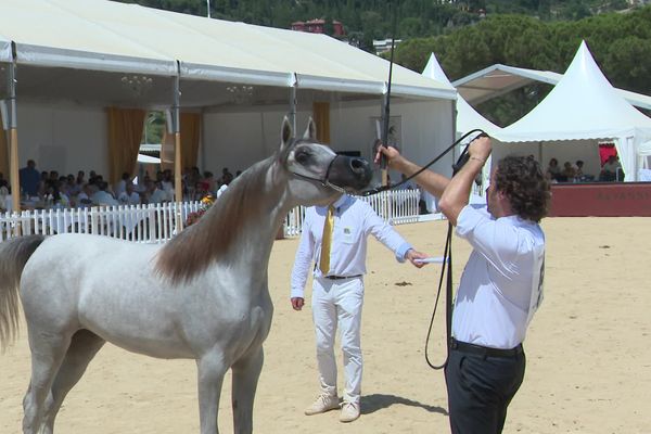
[(93, 359), (106, 341), (88, 330), (79, 330), (73, 335), (71, 345), (52, 383), (51, 393), (46, 400), (42, 434), (52, 434), (54, 419), (68, 392), (86, 372), (88, 363)]

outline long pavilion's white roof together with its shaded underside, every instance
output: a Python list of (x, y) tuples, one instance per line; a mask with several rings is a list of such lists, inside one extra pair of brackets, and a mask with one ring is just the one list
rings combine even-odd
[[(293, 86), (366, 98), (386, 92), (387, 61), (326, 35), (106, 0), (3, 0), (0, 61), (11, 61), (9, 41), (15, 43), (20, 93), (40, 99), (79, 93), (112, 104), (145, 99), (168, 105), (177, 75), (184, 106), (220, 105), (232, 98), (232, 84), (255, 86), (260, 103), (286, 101), (286, 90), (278, 88)], [(455, 98), (448, 87), (399, 65), (392, 93)]]

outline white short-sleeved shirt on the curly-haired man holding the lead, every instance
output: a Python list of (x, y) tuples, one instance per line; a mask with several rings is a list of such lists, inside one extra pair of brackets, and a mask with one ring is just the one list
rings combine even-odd
[(545, 234), (519, 216), (498, 219), (486, 206), (465, 206), (457, 234), (473, 251), (461, 276), (452, 335), (461, 342), (513, 348), (542, 301)]

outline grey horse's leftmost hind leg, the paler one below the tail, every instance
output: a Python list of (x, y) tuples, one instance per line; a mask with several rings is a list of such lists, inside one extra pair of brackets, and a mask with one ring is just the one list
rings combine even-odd
[(46, 398), (51, 399), (54, 375), (69, 345), (69, 337), (29, 330), (31, 381), (23, 399), (23, 433), (37, 434), (42, 426)]

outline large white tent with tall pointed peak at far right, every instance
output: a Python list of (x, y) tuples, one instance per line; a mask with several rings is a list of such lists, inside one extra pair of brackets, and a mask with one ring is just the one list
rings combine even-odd
[[(501, 142), (531, 144), (528, 148), (507, 145), (502, 148), (502, 153), (520, 151), (535, 154), (534, 150), (538, 149), (541, 161), (542, 148), (550, 143), (558, 144), (559, 152), (566, 152), (562, 148), (578, 148), (573, 146), (573, 143), (583, 143), (583, 150), (577, 152), (583, 153), (587, 146), (591, 146), (596, 156), (598, 141), (613, 141), (626, 181), (636, 180), (637, 146), (650, 138), (651, 118), (637, 111), (613, 89), (597, 66), (585, 41), (563, 78), (545, 100), (500, 133)], [(567, 158), (558, 159), (562, 162)], [(588, 161), (586, 166), (590, 164), (591, 170), (598, 171), (600, 167), (595, 167), (592, 161), (593, 158)]]

